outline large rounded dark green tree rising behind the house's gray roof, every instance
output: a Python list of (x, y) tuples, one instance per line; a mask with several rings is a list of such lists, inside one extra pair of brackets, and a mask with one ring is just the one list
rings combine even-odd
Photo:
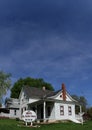
[(43, 86), (45, 86), (46, 89), (48, 90), (54, 90), (52, 85), (50, 83), (45, 82), (42, 78), (39, 79), (34, 79), (31, 77), (27, 77), (24, 79), (20, 78), (17, 82), (14, 83), (11, 89), (11, 97), (18, 98), (23, 86), (30, 86), (37, 88), (42, 88)]

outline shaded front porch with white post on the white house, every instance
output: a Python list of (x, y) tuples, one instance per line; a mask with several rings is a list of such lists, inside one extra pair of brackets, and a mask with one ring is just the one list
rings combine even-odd
[(37, 120), (47, 122), (55, 119), (54, 102), (51, 101), (38, 101), (28, 104), (28, 109), (35, 111)]

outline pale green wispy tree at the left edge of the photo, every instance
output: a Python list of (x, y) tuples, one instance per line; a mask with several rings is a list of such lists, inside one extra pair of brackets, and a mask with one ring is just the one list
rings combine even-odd
[(0, 102), (2, 101), (3, 95), (11, 88), (11, 74), (0, 71)]

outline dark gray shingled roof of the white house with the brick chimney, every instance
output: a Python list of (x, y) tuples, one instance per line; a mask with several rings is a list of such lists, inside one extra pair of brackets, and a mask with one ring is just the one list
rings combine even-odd
[[(57, 97), (62, 92), (61, 89), (58, 91), (50, 91), (30, 86), (24, 86), (23, 91), (27, 98), (36, 98), (36, 99), (55, 99), (55, 97)], [(77, 103), (77, 101), (74, 100), (67, 92), (66, 94), (71, 99), (72, 102)]]

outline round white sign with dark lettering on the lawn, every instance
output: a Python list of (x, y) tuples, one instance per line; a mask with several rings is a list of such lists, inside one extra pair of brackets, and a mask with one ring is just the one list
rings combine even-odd
[[(23, 117), (22, 119), (27, 123), (27, 122), (33, 122), (37, 118), (37, 115), (34, 111), (32, 110), (27, 110), (23, 112)], [(27, 125), (27, 124), (26, 124)]]

